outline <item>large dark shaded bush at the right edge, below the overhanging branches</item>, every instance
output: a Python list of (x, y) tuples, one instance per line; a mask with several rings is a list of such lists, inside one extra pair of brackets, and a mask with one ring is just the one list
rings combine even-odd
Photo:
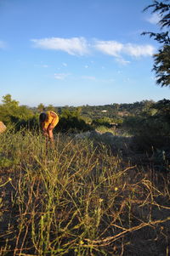
[(133, 134), (141, 149), (167, 148), (170, 143), (170, 100), (150, 105), (138, 117), (126, 117), (123, 127)]

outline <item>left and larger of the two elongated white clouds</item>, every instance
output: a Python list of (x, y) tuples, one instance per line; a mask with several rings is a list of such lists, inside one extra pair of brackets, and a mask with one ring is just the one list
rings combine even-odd
[(31, 39), (36, 48), (65, 51), (71, 55), (88, 54), (88, 43), (84, 37)]

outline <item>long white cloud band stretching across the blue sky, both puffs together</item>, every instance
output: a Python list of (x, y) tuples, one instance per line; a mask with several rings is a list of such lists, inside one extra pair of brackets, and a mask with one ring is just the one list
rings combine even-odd
[(107, 54), (116, 58), (116, 60), (126, 64), (122, 55), (130, 57), (147, 57), (154, 54), (155, 48), (150, 44), (133, 44), (133, 43), (120, 43), (116, 41), (102, 41), (102, 40), (88, 40), (84, 37), (60, 38), (49, 37), (42, 39), (31, 39), (33, 47), (50, 49), (57, 51), (64, 51), (71, 55), (87, 55), (92, 54), (94, 50), (100, 53)]

